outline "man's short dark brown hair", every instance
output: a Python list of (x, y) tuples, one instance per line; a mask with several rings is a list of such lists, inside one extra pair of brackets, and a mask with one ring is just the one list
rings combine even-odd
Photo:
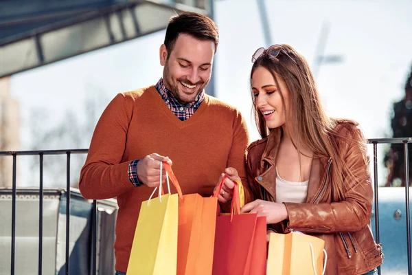
[(203, 14), (183, 12), (169, 20), (164, 42), (168, 50), (168, 58), (179, 34), (189, 34), (195, 39), (213, 41), (215, 44), (215, 52), (218, 49), (218, 26), (213, 20)]

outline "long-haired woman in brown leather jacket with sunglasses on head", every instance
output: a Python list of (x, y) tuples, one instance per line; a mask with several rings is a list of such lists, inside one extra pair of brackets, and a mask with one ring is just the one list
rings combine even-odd
[[(383, 254), (369, 228), (373, 190), (365, 138), (356, 122), (325, 114), (312, 72), (289, 45), (252, 57), (255, 121), (262, 136), (247, 152), (247, 203), (275, 232), (325, 241), (326, 274), (377, 274)], [(225, 171), (231, 179), (236, 169)], [(231, 199), (227, 181), (220, 202)], [(252, 199), (252, 200), (253, 200)], [(247, 199), (247, 201), (251, 199)]]

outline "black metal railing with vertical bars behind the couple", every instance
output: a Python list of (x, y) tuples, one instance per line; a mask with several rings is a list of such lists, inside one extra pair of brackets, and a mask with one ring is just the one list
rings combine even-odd
[[(379, 195), (378, 195), (378, 144), (404, 144), (404, 167), (405, 167), (405, 199), (406, 199), (406, 219), (407, 219), (407, 259), (408, 259), (408, 274), (412, 275), (412, 254), (411, 254), (411, 228), (410, 228), (410, 203), (409, 203), (409, 152), (408, 144), (412, 143), (412, 137), (409, 138), (385, 138), (385, 139), (369, 139), (369, 144), (374, 147), (374, 197), (375, 197), (375, 238), (376, 243), (380, 243), (379, 235)], [(43, 251), (43, 156), (44, 155), (67, 155), (67, 192), (66, 196), (66, 261), (65, 261), (65, 274), (69, 274), (69, 240), (70, 240), (70, 157), (72, 154), (84, 154), (87, 153), (87, 149), (76, 150), (52, 150), (52, 151), (1, 151), (1, 156), (12, 156), (12, 244), (11, 244), (11, 263), (10, 274), (15, 273), (15, 248), (16, 248), (16, 160), (21, 155), (38, 155), (39, 157), (39, 172), (40, 172), (40, 186), (39, 186), (39, 220), (38, 220), (38, 274), (42, 274), (42, 251)], [(96, 267), (96, 251), (97, 251), (97, 236), (98, 236), (98, 221), (97, 221), (97, 201), (93, 201), (92, 208), (92, 241), (91, 241), (91, 274), (97, 274)], [(378, 273), (380, 274), (380, 267), (378, 267)]]

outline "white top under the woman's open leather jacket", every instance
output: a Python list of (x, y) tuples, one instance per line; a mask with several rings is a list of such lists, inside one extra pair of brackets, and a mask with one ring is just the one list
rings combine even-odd
[(306, 201), (309, 179), (300, 182), (287, 181), (279, 176), (277, 167), (276, 174), (276, 202), (304, 203)]

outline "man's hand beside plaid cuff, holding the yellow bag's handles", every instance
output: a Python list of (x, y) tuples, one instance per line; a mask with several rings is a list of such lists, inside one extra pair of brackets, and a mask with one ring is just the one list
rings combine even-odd
[[(137, 163), (137, 177), (146, 186), (157, 187), (160, 184), (160, 162), (168, 162), (172, 165), (169, 157), (163, 157), (157, 153), (146, 155)], [(162, 167), (162, 183), (166, 180), (166, 171)]]

